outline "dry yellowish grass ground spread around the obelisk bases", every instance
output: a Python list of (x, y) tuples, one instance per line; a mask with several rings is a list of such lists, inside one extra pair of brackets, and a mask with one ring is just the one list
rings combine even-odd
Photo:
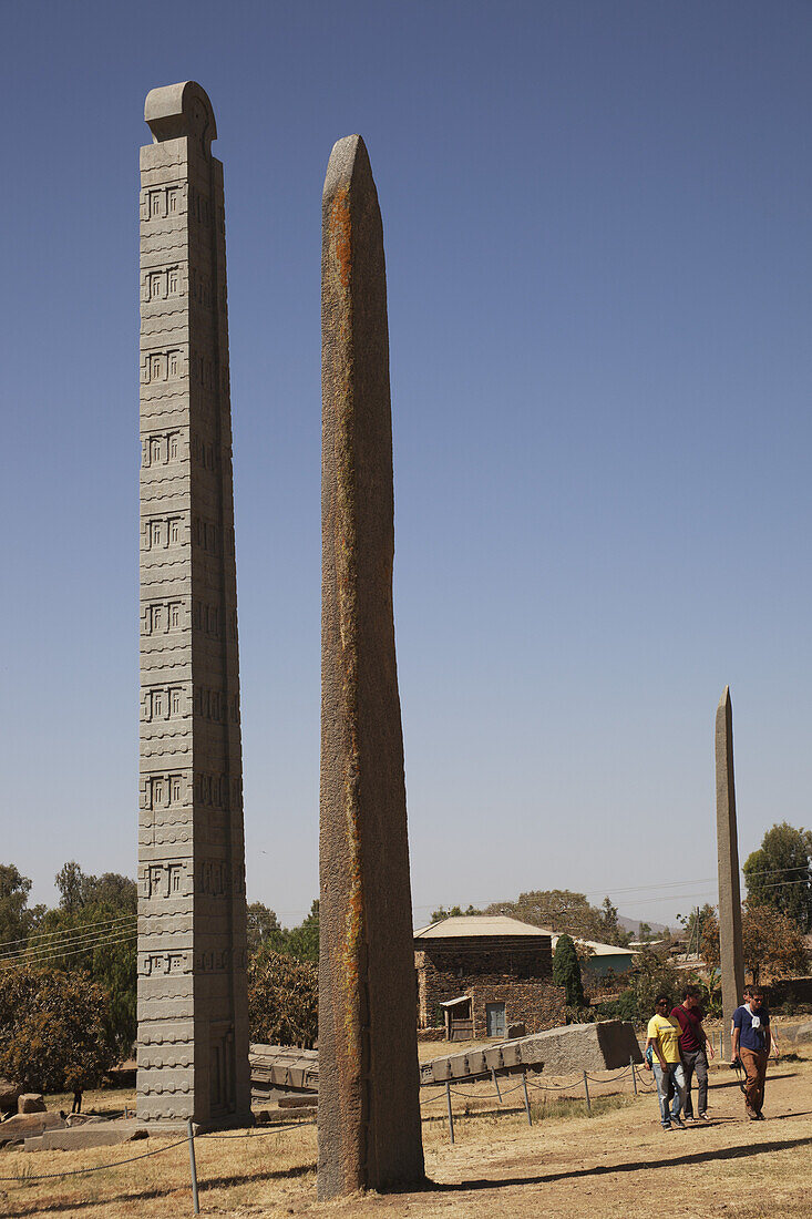
[[(663, 1134), (652, 1095), (632, 1095), (630, 1079), (590, 1085), (545, 1080), (561, 1090), (533, 1091), (527, 1125), (521, 1087), (500, 1109), (489, 1085), (455, 1098), (456, 1143), (450, 1146), (445, 1096), (424, 1090), (427, 1170), (432, 1186), (402, 1195), (316, 1201), (312, 1125), (196, 1140), (202, 1215), (361, 1219), (400, 1217), (530, 1217), (574, 1219), (595, 1213), (724, 1219), (812, 1217), (812, 1050), (771, 1064), (767, 1121), (744, 1120), (741, 1093), (729, 1069), (712, 1070), (707, 1125)], [(544, 1079), (544, 1076), (541, 1076)], [(541, 1080), (539, 1080), (540, 1082)], [(506, 1082), (505, 1089), (511, 1084)], [(122, 1108), (126, 1093), (104, 1097)], [(467, 1112), (466, 1112), (467, 1111)], [(169, 1140), (167, 1140), (168, 1142)], [(0, 1176), (66, 1173), (141, 1156), (155, 1137), (87, 1152), (2, 1152)], [(168, 1217), (191, 1214), (185, 1145), (89, 1175), (0, 1181), (0, 1215)]]

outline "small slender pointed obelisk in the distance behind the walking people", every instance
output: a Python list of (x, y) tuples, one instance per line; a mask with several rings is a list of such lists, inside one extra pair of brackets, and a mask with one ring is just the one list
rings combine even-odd
[(739, 834), (733, 779), (733, 706), (730, 689), (716, 709), (716, 841), (719, 863), (719, 956), (722, 963), (723, 1035), (730, 1048), (730, 1020), (741, 1003), (744, 950), (739, 889)]

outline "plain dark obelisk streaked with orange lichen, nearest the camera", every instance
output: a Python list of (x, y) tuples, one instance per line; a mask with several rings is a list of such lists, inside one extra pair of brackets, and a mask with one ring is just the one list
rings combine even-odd
[(318, 1196), (423, 1179), (383, 227), (363, 140), (322, 228)]

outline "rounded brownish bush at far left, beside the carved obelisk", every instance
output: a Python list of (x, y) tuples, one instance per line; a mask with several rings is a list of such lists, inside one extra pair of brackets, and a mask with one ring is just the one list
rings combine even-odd
[(37, 1092), (82, 1091), (116, 1057), (107, 995), (88, 974), (0, 970), (0, 1074)]

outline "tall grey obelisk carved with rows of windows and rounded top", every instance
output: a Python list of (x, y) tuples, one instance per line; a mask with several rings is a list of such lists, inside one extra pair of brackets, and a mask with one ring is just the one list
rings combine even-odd
[(138, 1118), (250, 1120), (223, 167), (152, 89), (141, 149)]

